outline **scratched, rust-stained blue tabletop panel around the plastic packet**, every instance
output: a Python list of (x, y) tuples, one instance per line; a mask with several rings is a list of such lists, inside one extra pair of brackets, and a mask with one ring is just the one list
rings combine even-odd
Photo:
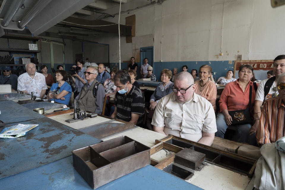
[[(19, 122), (6, 127), (15, 124)], [(0, 139), (0, 178), (54, 162), (72, 155), (73, 150), (102, 141), (47, 117), (20, 124), (39, 126), (23, 137)]]

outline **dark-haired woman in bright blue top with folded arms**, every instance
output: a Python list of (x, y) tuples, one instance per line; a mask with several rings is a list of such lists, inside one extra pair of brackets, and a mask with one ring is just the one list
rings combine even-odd
[[(61, 103), (61, 104), (69, 104), (69, 99), (71, 97), (71, 86), (66, 83), (65, 81), (67, 80), (67, 73), (64, 70), (57, 70), (56, 71), (56, 81), (58, 83), (53, 83), (53, 85), (50, 88), (49, 91), (49, 96), (50, 100), (54, 100), (56, 103)], [(52, 91), (55, 91), (53, 97)]]

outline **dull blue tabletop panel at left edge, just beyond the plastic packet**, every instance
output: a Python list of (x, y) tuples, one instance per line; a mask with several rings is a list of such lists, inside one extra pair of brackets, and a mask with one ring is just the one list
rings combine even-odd
[(45, 117), (29, 108), (17, 104), (13, 100), (1, 101), (0, 110), (0, 120), (6, 124)]

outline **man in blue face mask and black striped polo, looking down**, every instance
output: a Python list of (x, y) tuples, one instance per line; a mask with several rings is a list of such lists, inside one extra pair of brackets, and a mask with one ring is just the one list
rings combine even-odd
[(140, 124), (145, 113), (145, 97), (142, 91), (132, 85), (130, 75), (125, 71), (118, 71), (114, 76), (117, 86), (115, 110), (112, 118)]

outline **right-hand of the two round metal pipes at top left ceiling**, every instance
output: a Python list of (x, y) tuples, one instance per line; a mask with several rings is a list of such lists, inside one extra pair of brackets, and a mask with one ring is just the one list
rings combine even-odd
[(20, 29), (24, 28), (43, 8), (45, 8), (52, 0), (38, 1), (33, 8), (18, 23)]

